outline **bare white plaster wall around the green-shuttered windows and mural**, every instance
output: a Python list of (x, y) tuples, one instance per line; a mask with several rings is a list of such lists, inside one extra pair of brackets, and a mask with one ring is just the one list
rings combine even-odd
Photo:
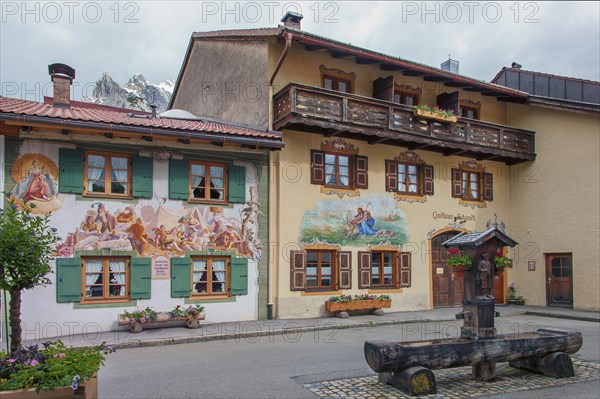
[[(0, 136), (3, 140), (3, 136)], [(3, 144), (0, 141), (0, 144)], [(20, 155), (28, 153), (39, 153), (52, 159), (58, 166), (58, 151), (66, 145), (59, 145), (51, 142), (33, 142), (26, 141), (20, 148)], [(0, 151), (2, 156), (4, 151)], [(0, 158), (0, 165), (3, 165), (3, 159)], [(251, 187), (257, 188), (256, 168), (248, 162), (236, 162), (239, 165), (246, 166), (246, 198), (250, 198)], [(155, 208), (160, 201), (168, 197), (168, 162), (160, 163), (154, 161), (154, 195), (153, 199), (141, 199), (138, 204), (152, 204)], [(1, 172), (0, 172), (1, 173)], [(3, 182), (4, 179), (0, 179)], [(1, 186), (0, 186), (1, 187)], [(112, 212), (117, 209), (124, 209), (126, 205), (135, 205), (136, 202), (121, 203), (112, 199), (78, 199), (75, 195), (64, 196), (62, 207), (53, 212), (51, 225), (58, 229), (61, 242), (79, 227), (86, 212), (91, 208), (94, 202), (103, 202)], [(183, 201), (166, 200), (163, 204), (167, 208), (181, 209)], [(236, 204), (230, 210), (229, 215), (240, 214), (243, 204)], [(136, 209), (137, 211), (137, 209)], [(226, 211), (227, 212), (227, 211)], [(139, 215), (139, 212), (138, 212)], [(255, 224), (255, 236), (258, 236), (258, 225)], [(151, 237), (152, 233), (149, 234)], [(263, 256), (268, 256), (263, 253)], [(106, 307), (106, 308), (85, 308), (75, 309), (72, 303), (56, 303), (56, 265), (51, 264), (52, 274), (49, 275), (52, 284), (46, 287), (36, 287), (33, 290), (24, 292), (21, 307), (21, 318), (24, 339), (45, 339), (55, 336), (68, 336), (71, 334), (86, 334), (90, 340), (99, 339), (101, 331), (109, 331), (117, 328), (116, 322), (118, 315), (124, 310), (131, 310), (131, 306), (125, 307)], [(209, 323), (256, 320), (258, 318), (258, 262), (249, 260), (248, 262), (248, 295), (237, 296), (235, 302), (211, 303), (210, 300), (202, 302), (206, 309), (206, 321)], [(138, 307), (150, 306), (157, 311), (169, 311), (176, 305), (184, 306), (184, 300), (181, 298), (170, 297), (170, 280), (152, 280), (151, 299), (138, 300)], [(121, 327), (122, 328), (122, 327)], [(106, 339), (107, 333), (104, 333)]]

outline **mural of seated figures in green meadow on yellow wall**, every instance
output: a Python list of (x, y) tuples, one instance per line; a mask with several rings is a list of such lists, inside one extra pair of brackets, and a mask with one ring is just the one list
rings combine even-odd
[(405, 214), (386, 194), (354, 200), (322, 200), (304, 213), (301, 241), (366, 246), (407, 241)]

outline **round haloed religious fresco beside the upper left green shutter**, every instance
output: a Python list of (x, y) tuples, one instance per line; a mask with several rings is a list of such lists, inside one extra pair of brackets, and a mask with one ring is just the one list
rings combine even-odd
[(23, 155), (15, 161), (11, 174), (16, 185), (10, 197), (17, 206), (34, 205), (33, 214), (60, 209), (64, 197), (58, 194), (58, 168), (50, 158), (41, 154)]

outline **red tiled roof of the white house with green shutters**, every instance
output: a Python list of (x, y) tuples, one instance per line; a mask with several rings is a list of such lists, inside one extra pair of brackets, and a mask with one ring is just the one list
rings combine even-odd
[(100, 109), (99, 106), (59, 107), (7, 97), (0, 97), (0, 122), (3, 121), (12, 121), (25, 126), (45, 124), (62, 129), (88, 128), (107, 133), (137, 133), (157, 138), (162, 136), (186, 140), (210, 140), (256, 148), (280, 149), (284, 146), (281, 132), (214, 119), (152, 118), (147, 112)]

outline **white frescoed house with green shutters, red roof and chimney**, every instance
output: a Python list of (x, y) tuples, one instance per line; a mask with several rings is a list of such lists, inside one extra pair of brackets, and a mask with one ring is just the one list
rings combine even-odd
[(72, 101), (75, 70), (49, 72), (44, 103), (0, 98), (0, 190), (52, 212), (61, 237), (52, 285), (23, 295), (24, 333), (111, 330), (136, 306), (202, 304), (211, 322), (265, 318), (261, 207), (281, 134)]

